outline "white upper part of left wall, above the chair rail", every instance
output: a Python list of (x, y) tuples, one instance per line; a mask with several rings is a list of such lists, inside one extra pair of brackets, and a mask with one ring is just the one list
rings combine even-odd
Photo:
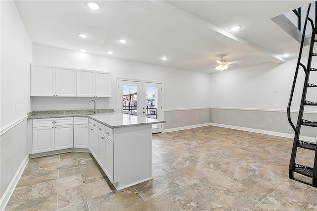
[(1, 131), (30, 111), (30, 63), (32, 42), (15, 4), (1, 1)]

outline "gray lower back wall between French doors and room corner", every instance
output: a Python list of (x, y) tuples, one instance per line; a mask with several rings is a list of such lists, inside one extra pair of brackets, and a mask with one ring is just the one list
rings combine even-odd
[(164, 130), (211, 122), (210, 108), (164, 111)]

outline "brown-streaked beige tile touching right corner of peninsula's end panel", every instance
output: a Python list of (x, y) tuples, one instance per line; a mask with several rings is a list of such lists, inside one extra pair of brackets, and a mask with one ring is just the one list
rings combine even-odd
[(133, 187), (144, 200), (148, 200), (178, 186), (179, 185), (174, 182), (168, 174), (162, 174), (151, 180), (134, 185)]

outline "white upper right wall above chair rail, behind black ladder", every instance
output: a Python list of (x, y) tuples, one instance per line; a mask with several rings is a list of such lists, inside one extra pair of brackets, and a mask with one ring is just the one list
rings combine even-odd
[[(307, 57), (302, 61), (306, 63)], [(265, 63), (211, 74), (211, 107), (286, 110), (297, 58), (282, 64)], [(317, 62), (312, 67), (317, 67)], [(292, 110), (298, 110), (305, 74), (299, 71)], [(317, 73), (310, 82), (317, 84)], [(276, 93), (274, 92), (276, 90)], [(309, 89), (307, 99), (317, 101), (317, 89)], [(275, 108), (277, 105), (277, 108)], [(315, 107), (306, 107), (315, 111)]]

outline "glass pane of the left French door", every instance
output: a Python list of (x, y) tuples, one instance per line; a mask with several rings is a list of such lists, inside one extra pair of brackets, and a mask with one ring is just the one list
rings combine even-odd
[(137, 115), (138, 107), (138, 86), (122, 86), (122, 113)]

